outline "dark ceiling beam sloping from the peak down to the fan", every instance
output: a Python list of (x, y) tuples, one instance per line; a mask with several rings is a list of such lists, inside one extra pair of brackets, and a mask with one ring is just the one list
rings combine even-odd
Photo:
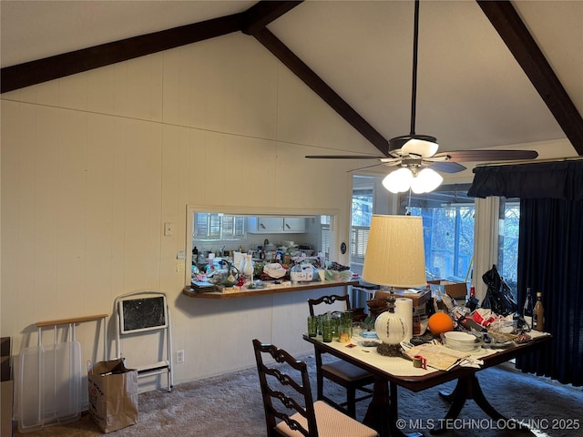
[(312, 88), (312, 91), (322, 98), (340, 116), (350, 123), (363, 137), (368, 139), (374, 147), (378, 148), (383, 156), (389, 151), (389, 142), (372, 127), (363, 117), (361, 117), (351, 107), (343, 97), (340, 97), (330, 86), (328, 86), (320, 76), (307, 66), (302, 59), (295, 56), (293, 52), (285, 46), (276, 36), (265, 27), (258, 28), (251, 34), (263, 46), (265, 46), (283, 65), (292, 70), (302, 81)]

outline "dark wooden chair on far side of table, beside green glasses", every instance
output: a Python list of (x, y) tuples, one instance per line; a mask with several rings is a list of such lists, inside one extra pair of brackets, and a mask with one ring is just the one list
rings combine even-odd
[[(332, 305), (332, 303), (337, 300), (343, 300), (346, 302), (346, 310), (351, 309), (350, 297), (347, 294), (343, 296), (332, 294), (330, 296), (322, 296), (318, 299), (309, 299), (308, 306), (310, 307), (310, 315), (314, 315), (315, 306), (322, 303), (326, 305)], [(327, 401), (334, 407), (347, 412), (349, 416), (353, 418), (356, 417), (356, 402), (370, 399), (373, 396), (373, 389), (365, 387), (367, 385), (373, 384), (373, 375), (350, 362), (342, 360), (322, 364), (322, 351), (320, 351), (318, 348), (314, 348), (314, 350), (316, 358), (316, 392), (318, 395), (318, 400)], [(339, 403), (333, 401), (330, 397), (324, 394), (324, 378), (333, 381), (346, 389), (345, 402)], [(363, 391), (366, 394), (357, 398), (357, 390)]]

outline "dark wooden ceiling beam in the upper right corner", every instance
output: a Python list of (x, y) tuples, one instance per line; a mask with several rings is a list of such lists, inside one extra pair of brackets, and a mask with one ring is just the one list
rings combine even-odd
[(583, 156), (583, 118), (509, 1), (476, 0), (579, 156)]

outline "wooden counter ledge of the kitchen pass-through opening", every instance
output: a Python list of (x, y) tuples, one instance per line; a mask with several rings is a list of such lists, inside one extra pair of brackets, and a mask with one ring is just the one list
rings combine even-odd
[(182, 294), (189, 298), (196, 299), (234, 299), (247, 298), (250, 296), (260, 296), (265, 294), (288, 293), (291, 291), (327, 289), (332, 287), (347, 287), (358, 285), (358, 279), (346, 281), (323, 280), (319, 282), (292, 283), (282, 281), (281, 284), (263, 282), (261, 288), (250, 289), (247, 286), (233, 287), (232, 289), (220, 289), (212, 291), (195, 290), (192, 286), (187, 286), (182, 290)]

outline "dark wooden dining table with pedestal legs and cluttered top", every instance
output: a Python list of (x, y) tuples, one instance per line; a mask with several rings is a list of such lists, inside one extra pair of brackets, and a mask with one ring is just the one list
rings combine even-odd
[[(312, 343), (322, 353), (330, 353), (373, 374), (373, 399), (364, 415), (363, 423), (376, 430), (380, 437), (387, 437), (423, 435), (420, 432), (404, 433), (403, 421), (398, 422), (398, 387), (418, 392), (456, 380), (453, 391), (439, 393), (445, 400), (451, 401), (451, 404), (445, 417), (435, 421), (437, 426), (430, 430), (432, 434), (446, 431), (441, 425), (455, 420), (468, 400), (475, 401), (476, 405), (493, 420), (511, 421), (487, 401), (477, 373), (513, 360), (519, 355), (537, 351), (552, 339), (552, 336), (545, 332), (531, 331), (529, 335), (531, 338), (526, 342), (508, 341), (507, 344), (498, 347), (477, 347), (476, 351), (468, 352), (471, 358), (470, 365), (461, 365), (463, 363), (460, 361), (460, 365), (455, 365), (447, 371), (430, 366), (426, 366), (426, 369), (414, 367), (414, 362), (405, 359), (404, 356), (382, 355), (374, 347), (364, 347), (363, 344), (367, 343), (363, 342), (365, 339), (359, 338), (358, 334), (354, 335), (349, 343), (341, 343), (339, 340), (324, 342), (322, 336), (310, 337), (307, 333), (303, 334), (303, 340)], [(480, 364), (476, 365), (476, 362)]]

